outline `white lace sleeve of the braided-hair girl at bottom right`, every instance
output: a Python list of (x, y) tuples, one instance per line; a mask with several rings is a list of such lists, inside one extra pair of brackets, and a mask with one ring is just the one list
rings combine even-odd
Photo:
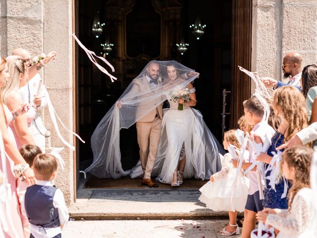
[(266, 223), (284, 233), (301, 233), (306, 227), (310, 212), (305, 199), (302, 196), (295, 196), (291, 212), (286, 217), (283, 217), (284, 212), (269, 214)]

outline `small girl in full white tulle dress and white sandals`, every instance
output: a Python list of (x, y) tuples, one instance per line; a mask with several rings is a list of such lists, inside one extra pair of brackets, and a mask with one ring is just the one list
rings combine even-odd
[[(236, 130), (229, 130), (224, 133), (224, 149), (227, 150), (229, 144), (236, 148), (241, 147), (235, 132)], [(213, 211), (228, 211), (230, 222), (222, 229), (221, 235), (223, 236), (240, 234), (237, 225), (237, 211), (244, 211), (249, 190), (249, 179), (243, 175), (242, 171), (236, 179), (237, 169), (231, 163), (232, 158), (230, 153), (226, 153), (221, 159), (221, 171), (211, 175), (210, 181), (199, 189), (202, 192), (199, 200), (208, 208)]]

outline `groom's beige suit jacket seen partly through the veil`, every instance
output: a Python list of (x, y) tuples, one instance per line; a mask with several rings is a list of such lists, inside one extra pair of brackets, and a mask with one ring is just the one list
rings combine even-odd
[[(122, 98), (122, 100), (124, 101), (124, 98), (126, 97), (131, 97), (133, 96), (133, 94), (138, 94), (140, 92), (144, 92), (144, 91), (149, 91), (151, 89), (153, 95), (155, 95), (156, 93), (158, 93), (157, 90), (161, 90), (161, 87), (159, 87), (161, 85), (161, 82), (158, 83), (158, 88), (153, 87), (151, 88), (147, 78), (145, 75), (143, 75), (142, 77), (136, 78), (133, 81), (133, 86), (131, 88), (131, 90)], [(137, 112), (136, 112), (136, 119), (138, 122), (151, 122), (155, 119), (155, 115), (158, 112), (158, 116), (160, 119), (162, 119), (162, 108), (163, 108), (163, 103), (161, 103), (163, 99), (163, 96), (160, 96), (158, 99), (156, 100), (152, 100), (151, 102), (145, 104), (145, 105), (140, 105), (138, 106)], [(153, 106), (151, 107), (151, 105), (149, 104), (153, 104)], [(154, 108), (151, 112), (147, 113), (144, 117), (142, 117), (142, 115), (144, 115), (145, 112), (147, 112), (148, 108)], [(140, 118), (142, 117), (142, 118)], [(140, 119), (139, 119), (140, 118)]]

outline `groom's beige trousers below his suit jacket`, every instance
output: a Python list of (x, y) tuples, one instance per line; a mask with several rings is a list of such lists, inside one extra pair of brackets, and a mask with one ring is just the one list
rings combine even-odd
[(151, 179), (157, 156), (162, 119), (156, 117), (151, 122), (137, 122), (138, 144), (144, 179)]

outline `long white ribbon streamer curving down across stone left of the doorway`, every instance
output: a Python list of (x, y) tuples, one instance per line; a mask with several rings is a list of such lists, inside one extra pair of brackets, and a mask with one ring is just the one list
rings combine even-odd
[(62, 135), (60, 134), (60, 131), (59, 131), (59, 128), (58, 128), (58, 125), (57, 125), (57, 121), (56, 121), (56, 118), (59, 120), (59, 122), (61, 123), (61, 125), (71, 134), (73, 134), (74, 136), (76, 136), (81, 142), (85, 143), (85, 141), (80, 138), (80, 136), (78, 134), (76, 134), (75, 132), (71, 131), (71, 130), (68, 130), (66, 128), (66, 126), (63, 124), (63, 122), (61, 121), (61, 119), (58, 117), (57, 113), (55, 112), (55, 109), (53, 107), (53, 104), (51, 102), (51, 99), (50, 99), (50, 95), (49, 93), (47, 92), (47, 90), (44, 90), (44, 94), (45, 94), (45, 97), (47, 99), (47, 102), (48, 102), (48, 108), (49, 108), (49, 114), (50, 114), (50, 117), (52, 119), (52, 122), (53, 122), (53, 125), (54, 125), (54, 128), (55, 128), (55, 131), (59, 137), (59, 139), (66, 145), (68, 146), (69, 148), (71, 148), (72, 150), (75, 150), (75, 146), (69, 144), (63, 137)]

